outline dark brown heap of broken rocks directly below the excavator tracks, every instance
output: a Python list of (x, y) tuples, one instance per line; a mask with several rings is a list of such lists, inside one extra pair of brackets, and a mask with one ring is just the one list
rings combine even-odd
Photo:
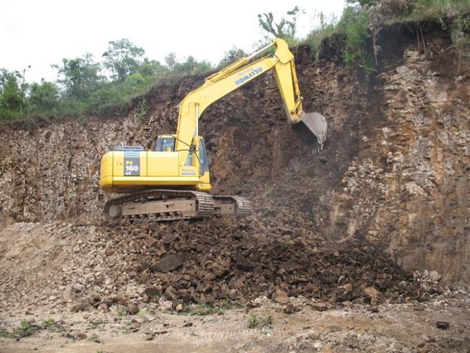
[(297, 226), (295, 220), (284, 223), (273, 235), (255, 221), (144, 222), (104, 236), (111, 243), (108, 254), (128, 254), (128, 274), (146, 286), (148, 300), (210, 304), (284, 292), (333, 303), (379, 303), (420, 296), (413, 277), (378, 249), (354, 241), (329, 244), (302, 236), (304, 228)]

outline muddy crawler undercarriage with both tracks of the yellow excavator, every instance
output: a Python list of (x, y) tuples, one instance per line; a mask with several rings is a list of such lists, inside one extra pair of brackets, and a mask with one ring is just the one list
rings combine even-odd
[(210, 195), (201, 191), (157, 189), (106, 202), (106, 220), (149, 218), (156, 221), (220, 216), (249, 216), (251, 202), (239, 196)]

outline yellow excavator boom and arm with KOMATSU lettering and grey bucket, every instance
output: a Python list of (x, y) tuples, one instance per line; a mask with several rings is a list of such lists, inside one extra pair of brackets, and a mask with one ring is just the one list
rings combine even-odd
[[(253, 56), (270, 46), (276, 48), (273, 57), (263, 57), (250, 62)], [(280, 88), (288, 121), (291, 124), (303, 122), (316, 138), (315, 149), (322, 149), (326, 136), (326, 120), (318, 113), (302, 111), (302, 96), (295, 72), (294, 56), (284, 40), (275, 39), (273, 44), (258, 50), (251, 57), (239, 59), (219, 73), (211, 75), (201, 87), (184, 97), (179, 105), (175, 143), (175, 151), (180, 153), (180, 165), (183, 165), (188, 157), (193, 137), (199, 135), (198, 120), (206, 108), (271, 69), (274, 70), (277, 86)]]

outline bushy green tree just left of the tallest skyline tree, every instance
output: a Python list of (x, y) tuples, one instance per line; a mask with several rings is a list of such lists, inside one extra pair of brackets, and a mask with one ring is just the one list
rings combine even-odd
[(57, 68), (62, 75), (57, 82), (63, 84), (66, 94), (78, 99), (88, 97), (91, 90), (95, 90), (104, 82), (104, 77), (99, 74), (101, 67), (93, 61), (90, 53), (75, 59), (62, 59), (61, 66), (52, 67)]

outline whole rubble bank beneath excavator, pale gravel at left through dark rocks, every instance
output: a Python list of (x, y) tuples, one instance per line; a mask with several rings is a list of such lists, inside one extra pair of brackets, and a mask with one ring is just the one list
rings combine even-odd
[[(72, 311), (120, 304), (138, 311), (133, 305), (160, 299), (211, 305), (268, 296), (286, 304), (289, 296), (302, 296), (377, 305), (424, 300), (438, 290), (380, 249), (360, 240), (327, 242), (301, 216), (288, 219), (36, 224), (40, 233), (34, 224), (17, 223), (9, 228), (22, 234), (14, 250), (2, 245), (9, 265), (0, 273), (7, 278), (0, 304)], [(27, 254), (32, 238), (43, 244), (47, 238), (48, 247)]]

